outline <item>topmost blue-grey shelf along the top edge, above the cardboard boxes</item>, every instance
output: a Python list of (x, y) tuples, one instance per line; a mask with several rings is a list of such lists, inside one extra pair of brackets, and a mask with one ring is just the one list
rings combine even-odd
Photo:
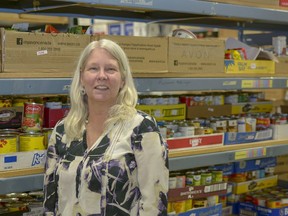
[[(0, 12), (133, 20), (178, 25), (287, 30), (288, 10), (220, 2), (181, 0), (2, 0)], [(286, 10), (285, 10), (286, 9)]]

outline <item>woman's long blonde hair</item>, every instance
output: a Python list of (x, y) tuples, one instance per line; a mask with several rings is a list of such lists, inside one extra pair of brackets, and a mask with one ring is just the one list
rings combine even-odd
[(85, 67), (88, 57), (95, 48), (107, 50), (117, 61), (124, 85), (120, 90), (116, 105), (110, 108), (106, 127), (118, 121), (129, 119), (136, 113), (135, 106), (138, 101), (137, 90), (134, 85), (128, 58), (123, 49), (108, 39), (90, 42), (82, 51), (70, 87), (71, 108), (64, 119), (67, 140), (80, 139), (83, 136), (85, 122), (88, 118), (87, 96), (81, 94), (81, 68)]

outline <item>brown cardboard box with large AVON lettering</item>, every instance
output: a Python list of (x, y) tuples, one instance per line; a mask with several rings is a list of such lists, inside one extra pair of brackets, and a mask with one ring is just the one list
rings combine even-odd
[(169, 72), (224, 74), (224, 40), (169, 37)]

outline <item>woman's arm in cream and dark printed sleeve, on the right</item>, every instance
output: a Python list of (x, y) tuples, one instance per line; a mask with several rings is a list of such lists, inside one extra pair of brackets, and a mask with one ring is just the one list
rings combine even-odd
[(168, 147), (156, 121), (146, 117), (138, 128), (134, 152), (141, 192), (140, 215), (167, 215)]

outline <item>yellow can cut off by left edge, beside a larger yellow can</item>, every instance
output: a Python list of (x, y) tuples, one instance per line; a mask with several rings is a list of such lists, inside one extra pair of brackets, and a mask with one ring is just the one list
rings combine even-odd
[(17, 136), (13, 134), (0, 134), (0, 154), (17, 152)]

